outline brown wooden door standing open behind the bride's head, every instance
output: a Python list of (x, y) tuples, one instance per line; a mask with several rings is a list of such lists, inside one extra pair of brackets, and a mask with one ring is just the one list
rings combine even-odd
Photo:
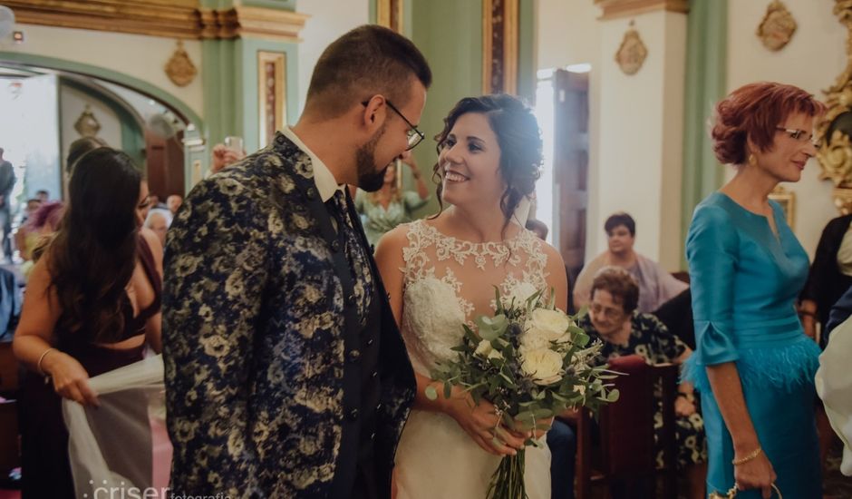
[[(557, 244), (573, 286), (586, 257), (588, 207), (588, 73), (554, 73), (554, 202), (559, 213)], [(569, 293), (570, 296), (570, 293)]]

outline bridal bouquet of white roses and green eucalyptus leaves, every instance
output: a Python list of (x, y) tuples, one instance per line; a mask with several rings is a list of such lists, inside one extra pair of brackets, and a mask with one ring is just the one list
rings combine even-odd
[[(589, 337), (574, 318), (544, 302), (542, 291), (528, 298), (500, 297), (495, 314), (476, 318), (477, 331), (464, 325), (458, 357), (441, 363), (431, 373), (443, 383), (445, 398), (452, 386), (461, 386), (473, 401), (488, 400), (501, 423), (518, 431), (547, 430), (542, 424), (566, 408), (614, 402), (618, 391), (609, 389), (614, 375), (605, 367), (589, 367), (602, 344), (589, 345)], [(553, 293), (551, 293), (552, 295)], [(435, 386), (426, 396), (438, 397)], [(496, 438), (496, 436), (495, 436)], [(540, 445), (528, 439), (527, 445)], [(488, 499), (526, 499), (524, 451), (504, 456), (491, 476)]]

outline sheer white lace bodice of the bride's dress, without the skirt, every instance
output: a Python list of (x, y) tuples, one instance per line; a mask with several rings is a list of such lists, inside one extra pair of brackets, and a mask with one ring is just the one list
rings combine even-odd
[(445, 236), (425, 220), (408, 227), (402, 249), (402, 336), (414, 369), (428, 375), (452, 355), (462, 324), (491, 314), (494, 287), (510, 300), (547, 289), (547, 254), (529, 230), (502, 242), (473, 243)]

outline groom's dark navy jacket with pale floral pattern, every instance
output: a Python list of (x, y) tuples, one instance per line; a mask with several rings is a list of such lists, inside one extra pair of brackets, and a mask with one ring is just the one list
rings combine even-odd
[[(329, 219), (310, 159), (280, 133), (201, 181), (179, 210), (163, 289), (172, 493), (332, 495), (353, 380)], [(384, 498), (415, 381), (370, 266), (382, 307), (374, 464)]]

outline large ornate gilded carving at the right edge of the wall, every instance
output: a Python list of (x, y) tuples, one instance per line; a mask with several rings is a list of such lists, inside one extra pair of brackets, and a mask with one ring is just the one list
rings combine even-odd
[(835, 0), (834, 14), (847, 28), (847, 67), (825, 90), (828, 113), (817, 124), (820, 145), (819, 178), (830, 180), (832, 196), (841, 212), (852, 208), (852, 0)]

